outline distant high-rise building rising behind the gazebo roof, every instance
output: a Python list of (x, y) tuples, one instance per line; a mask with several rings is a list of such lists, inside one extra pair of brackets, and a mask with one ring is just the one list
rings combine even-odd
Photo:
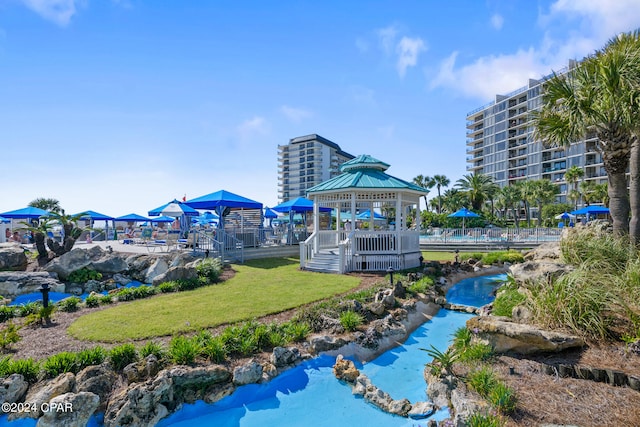
[(340, 165), (355, 158), (320, 135), (299, 136), (278, 145), (280, 203), (304, 197), (307, 188), (340, 174)]

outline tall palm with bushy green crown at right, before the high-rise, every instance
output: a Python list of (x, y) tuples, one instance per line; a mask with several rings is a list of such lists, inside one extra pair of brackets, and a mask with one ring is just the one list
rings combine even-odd
[[(610, 41), (564, 75), (546, 82), (542, 108), (534, 113), (538, 137), (551, 145), (568, 146), (585, 138), (598, 137), (609, 180), (613, 229), (629, 231), (629, 193), (625, 173), (629, 165), (632, 134), (638, 129), (638, 73), (640, 33), (633, 32)], [(632, 175), (637, 173), (632, 171)], [(633, 182), (633, 178), (632, 178)], [(632, 191), (633, 194), (633, 191)], [(633, 212), (636, 222), (638, 208)], [(640, 224), (631, 239), (640, 237)], [(636, 236), (636, 234), (638, 234)]]

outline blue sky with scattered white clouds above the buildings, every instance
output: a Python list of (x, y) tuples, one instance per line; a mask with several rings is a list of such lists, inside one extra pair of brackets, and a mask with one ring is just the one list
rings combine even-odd
[(640, 0), (0, 0), (0, 212), (273, 206), (311, 133), (453, 184), (469, 111), (637, 27)]

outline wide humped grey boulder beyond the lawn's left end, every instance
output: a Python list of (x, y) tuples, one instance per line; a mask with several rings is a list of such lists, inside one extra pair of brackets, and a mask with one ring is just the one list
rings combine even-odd
[(71, 273), (84, 267), (104, 274), (121, 273), (129, 269), (129, 265), (119, 254), (105, 252), (99, 246), (72, 249), (53, 259), (45, 269), (66, 280)]

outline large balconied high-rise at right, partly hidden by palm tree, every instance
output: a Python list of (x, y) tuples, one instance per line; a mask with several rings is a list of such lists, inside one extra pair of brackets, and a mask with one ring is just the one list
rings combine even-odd
[[(573, 67), (575, 62), (570, 62)], [(558, 74), (567, 72), (563, 69)], [(564, 173), (571, 166), (584, 168), (585, 180), (607, 181), (602, 156), (596, 152), (595, 136), (565, 147), (545, 147), (533, 137), (530, 113), (542, 104), (545, 81), (529, 80), (527, 86), (467, 114), (467, 171), (493, 178), (500, 187), (526, 179), (548, 179), (557, 183), (557, 201), (567, 202)]]

